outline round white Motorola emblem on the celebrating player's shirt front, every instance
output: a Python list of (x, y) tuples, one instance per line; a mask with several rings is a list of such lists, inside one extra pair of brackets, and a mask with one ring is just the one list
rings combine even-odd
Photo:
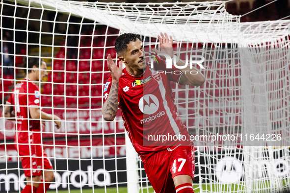
[(139, 100), (139, 109), (142, 113), (147, 115), (154, 114), (159, 108), (158, 98), (154, 95), (142, 96)]

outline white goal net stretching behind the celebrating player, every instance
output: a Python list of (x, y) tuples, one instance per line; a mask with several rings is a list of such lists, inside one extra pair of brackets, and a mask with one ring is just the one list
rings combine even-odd
[[(195, 136), (197, 192), (290, 190), (290, 20), (240, 23), (225, 2), (0, 2), (0, 113), (39, 56), (42, 110), (62, 119), (42, 125), (54, 192), (153, 193), (120, 112), (102, 118), (106, 56), (116, 38), (138, 33), (145, 48), (172, 35), (176, 54), (202, 55), (206, 82), (172, 84), (182, 120)], [(10, 62), (9, 62), (10, 61)], [(198, 67), (197, 67), (198, 68)], [(0, 117), (0, 193), (20, 192), (25, 175), (14, 148), (15, 121)]]

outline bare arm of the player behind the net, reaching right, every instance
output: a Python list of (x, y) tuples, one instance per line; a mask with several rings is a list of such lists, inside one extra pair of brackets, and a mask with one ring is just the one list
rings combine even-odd
[(29, 113), (32, 119), (54, 120), (56, 128), (60, 128), (61, 126), (61, 119), (58, 116), (45, 113), (39, 107), (29, 107)]

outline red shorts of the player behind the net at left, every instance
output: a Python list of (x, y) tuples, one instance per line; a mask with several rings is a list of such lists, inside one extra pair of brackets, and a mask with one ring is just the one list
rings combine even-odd
[(21, 158), (25, 176), (41, 176), (42, 169), (53, 168), (41, 144), (15, 144), (15, 148)]

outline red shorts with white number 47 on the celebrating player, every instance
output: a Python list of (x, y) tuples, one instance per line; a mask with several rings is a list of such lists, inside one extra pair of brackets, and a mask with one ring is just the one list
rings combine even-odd
[(177, 175), (194, 176), (193, 146), (178, 146), (162, 150), (142, 161), (148, 179), (156, 193), (176, 193), (173, 178)]

